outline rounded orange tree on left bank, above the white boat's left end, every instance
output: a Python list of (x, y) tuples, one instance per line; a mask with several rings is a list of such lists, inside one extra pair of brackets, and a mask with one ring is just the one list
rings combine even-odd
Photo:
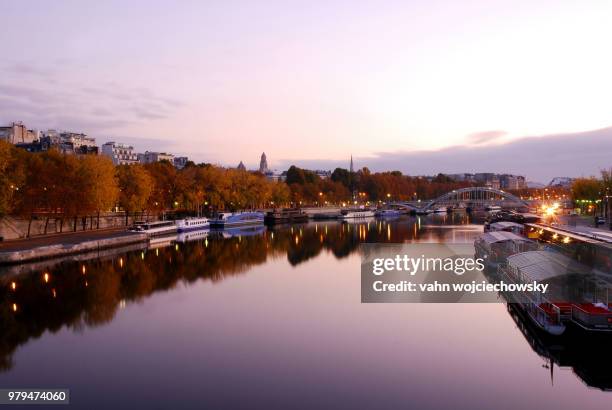
[(153, 179), (140, 164), (119, 165), (116, 168), (119, 184), (119, 205), (125, 210), (125, 224), (130, 212), (142, 211), (153, 191)]

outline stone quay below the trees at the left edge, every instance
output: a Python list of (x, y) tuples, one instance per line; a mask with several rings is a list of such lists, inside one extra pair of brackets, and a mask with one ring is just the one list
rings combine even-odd
[(0, 265), (74, 255), (146, 242), (147, 235), (123, 228), (71, 232), (0, 243)]

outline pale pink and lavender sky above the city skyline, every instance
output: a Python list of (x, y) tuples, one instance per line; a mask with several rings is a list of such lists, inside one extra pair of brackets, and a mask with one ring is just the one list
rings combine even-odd
[(0, 15), (0, 123), (198, 162), (473, 172), (488, 166), (474, 152), (612, 125), (606, 1), (22, 0)]

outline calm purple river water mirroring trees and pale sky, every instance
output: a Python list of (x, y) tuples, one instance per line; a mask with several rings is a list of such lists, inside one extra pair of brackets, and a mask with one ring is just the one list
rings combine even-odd
[(360, 303), (360, 243), (480, 232), (310, 222), (4, 268), (0, 387), (84, 409), (612, 408), (610, 340), (546, 337), (501, 303)]

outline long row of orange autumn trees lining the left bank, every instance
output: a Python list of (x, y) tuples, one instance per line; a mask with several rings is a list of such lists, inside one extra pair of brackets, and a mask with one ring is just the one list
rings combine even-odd
[(331, 178), (320, 178), (296, 166), (285, 181), (271, 181), (258, 172), (192, 162), (180, 170), (167, 161), (114, 166), (105, 156), (30, 153), (0, 141), (0, 215), (45, 218), (45, 233), (49, 219), (60, 221), (60, 231), (64, 225), (77, 230), (85, 217), (99, 227), (100, 214), (110, 210), (124, 211), (127, 224), (136, 213), (427, 199), (467, 185), (442, 174), (429, 180), (367, 168), (336, 168)]

